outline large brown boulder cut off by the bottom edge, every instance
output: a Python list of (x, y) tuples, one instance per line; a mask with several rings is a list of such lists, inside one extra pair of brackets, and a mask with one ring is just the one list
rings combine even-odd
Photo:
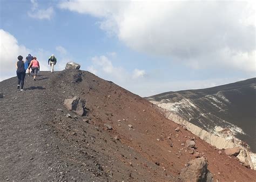
[(207, 169), (205, 158), (197, 158), (187, 163), (187, 167), (180, 172), (180, 179), (184, 182), (212, 182), (212, 173)]

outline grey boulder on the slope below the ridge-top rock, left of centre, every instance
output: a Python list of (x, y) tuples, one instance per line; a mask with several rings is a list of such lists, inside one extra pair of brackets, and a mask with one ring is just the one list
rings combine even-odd
[(82, 100), (78, 96), (70, 99), (65, 99), (64, 105), (66, 109), (77, 113), (79, 116), (83, 116), (85, 107), (82, 103)]

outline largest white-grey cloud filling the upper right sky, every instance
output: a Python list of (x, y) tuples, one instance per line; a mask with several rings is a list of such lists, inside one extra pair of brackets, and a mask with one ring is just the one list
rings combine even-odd
[(59, 7), (99, 18), (100, 28), (139, 52), (193, 69), (256, 71), (254, 2), (70, 0)]

